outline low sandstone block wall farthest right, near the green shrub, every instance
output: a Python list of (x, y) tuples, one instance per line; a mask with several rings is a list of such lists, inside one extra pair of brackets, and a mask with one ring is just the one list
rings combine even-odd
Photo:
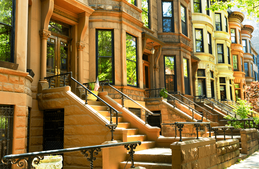
[(254, 128), (240, 130), (241, 153), (250, 155), (258, 149), (258, 134)]

